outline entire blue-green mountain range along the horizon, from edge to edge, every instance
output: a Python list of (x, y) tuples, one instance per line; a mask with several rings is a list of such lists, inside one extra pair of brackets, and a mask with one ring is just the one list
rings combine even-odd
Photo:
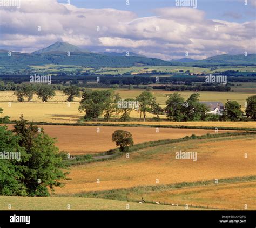
[[(70, 52), (70, 56), (68, 55)], [(21, 53), (0, 50), (0, 66), (22, 65), (82, 65), (82, 66), (177, 66), (177, 65), (256, 65), (256, 54), (217, 55), (204, 60), (183, 58), (180, 60), (164, 61), (157, 58), (147, 58), (133, 52), (95, 53), (80, 49), (66, 42), (56, 42), (49, 47), (33, 53)]]

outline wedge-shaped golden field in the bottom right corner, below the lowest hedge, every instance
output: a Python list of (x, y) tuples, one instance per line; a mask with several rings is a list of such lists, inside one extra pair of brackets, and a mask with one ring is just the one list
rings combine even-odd
[(209, 208), (256, 210), (256, 182), (211, 184), (209, 186), (188, 187), (170, 191), (157, 191), (143, 194), (129, 194), (129, 198), (143, 197), (147, 201), (160, 201), (204, 206)]

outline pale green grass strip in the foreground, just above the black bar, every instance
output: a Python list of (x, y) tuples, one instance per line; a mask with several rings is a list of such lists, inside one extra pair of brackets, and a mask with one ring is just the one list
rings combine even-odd
[[(10, 206), (11, 206), (11, 209), (9, 209)], [(0, 196), (0, 210), (186, 210), (186, 209), (183, 206), (139, 204), (134, 202), (103, 200), (103, 199), (95, 199), (95, 198)], [(190, 208), (190, 210), (199, 210), (199, 209)]]

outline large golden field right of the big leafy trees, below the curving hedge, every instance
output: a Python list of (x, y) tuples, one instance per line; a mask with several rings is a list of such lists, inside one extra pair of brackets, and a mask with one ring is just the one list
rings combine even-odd
[[(149, 147), (131, 153), (130, 158), (124, 155), (72, 167), (72, 180), (64, 181), (65, 187), (56, 189), (56, 193), (147, 186), (156, 184), (157, 179), (159, 184), (171, 184), (255, 175), (255, 144), (255, 136), (239, 136)], [(197, 152), (197, 161), (176, 159), (179, 151)]]

